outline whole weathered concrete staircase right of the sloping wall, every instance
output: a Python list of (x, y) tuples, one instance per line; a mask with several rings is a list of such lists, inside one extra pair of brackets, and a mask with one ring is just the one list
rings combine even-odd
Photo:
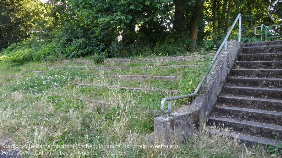
[(282, 140), (282, 41), (245, 43), (209, 115), (248, 145)]

